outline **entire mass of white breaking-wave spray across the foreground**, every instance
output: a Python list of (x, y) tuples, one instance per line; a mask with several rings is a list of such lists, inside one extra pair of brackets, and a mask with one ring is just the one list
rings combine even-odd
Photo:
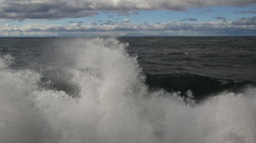
[(195, 104), (191, 91), (185, 101), (178, 92), (149, 90), (127, 43), (58, 45), (54, 65), (43, 70), (13, 70), (13, 57), (1, 56), (0, 142), (256, 141), (255, 87)]

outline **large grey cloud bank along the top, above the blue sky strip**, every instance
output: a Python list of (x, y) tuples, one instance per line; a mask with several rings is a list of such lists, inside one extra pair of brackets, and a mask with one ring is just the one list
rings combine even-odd
[[(1, 0), (2, 19), (63, 19), (91, 17), (100, 11), (135, 13), (138, 10), (186, 10), (186, 7), (245, 6), (255, 0)], [(208, 13), (210, 10), (202, 11)]]

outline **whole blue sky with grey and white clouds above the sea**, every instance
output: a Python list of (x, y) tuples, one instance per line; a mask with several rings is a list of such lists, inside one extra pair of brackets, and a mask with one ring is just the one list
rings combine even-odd
[(0, 36), (256, 35), (256, 0), (0, 0)]

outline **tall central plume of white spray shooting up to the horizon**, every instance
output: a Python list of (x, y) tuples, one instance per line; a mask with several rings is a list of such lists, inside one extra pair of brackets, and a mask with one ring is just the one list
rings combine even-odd
[(154, 142), (147, 132), (152, 132), (150, 124), (139, 119), (137, 102), (146, 92), (141, 70), (124, 47), (115, 39), (74, 42), (73, 50), (79, 51), (74, 57), (79, 60), (69, 72), (81, 87), (81, 97), (65, 101), (63, 95), (55, 100), (47, 97), (38, 104), (39, 108), (47, 104), (41, 112), (62, 135), (60, 142)]

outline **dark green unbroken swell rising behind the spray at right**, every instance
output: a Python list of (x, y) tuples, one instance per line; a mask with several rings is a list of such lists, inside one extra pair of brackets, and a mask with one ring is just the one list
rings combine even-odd
[(163, 88), (167, 92), (180, 92), (187, 98), (187, 91), (193, 93), (194, 99), (202, 101), (221, 92), (242, 92), (243, 88), (255, 86), (253, 81), (215, 79), (191, 73), (175, 72), (171, 74), (146, 74), (146, 82), (151, 90)]

